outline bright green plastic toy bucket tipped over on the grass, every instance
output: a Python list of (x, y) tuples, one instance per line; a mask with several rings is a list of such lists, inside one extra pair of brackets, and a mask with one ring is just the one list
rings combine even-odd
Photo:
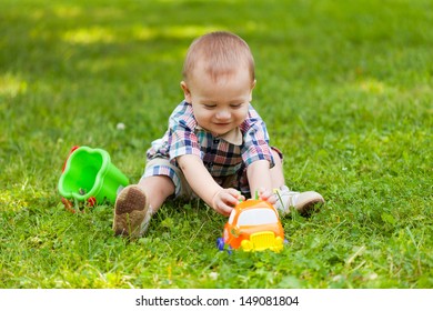
[(99, 203), (114, 203), (118, 192), (128, 184), (128, 178), (111, 163), (105, 150), (79, 147), (64, 163), (58, 189), (67, 199), (94, 198)]

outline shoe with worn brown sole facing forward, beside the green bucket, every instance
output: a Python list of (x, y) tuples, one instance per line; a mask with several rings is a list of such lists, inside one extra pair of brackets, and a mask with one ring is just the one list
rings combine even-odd
[(140, 238), (149, 225), (149, 202), (135, 184), (125, 187), (114, 204), (113, 230), (115, 235)]

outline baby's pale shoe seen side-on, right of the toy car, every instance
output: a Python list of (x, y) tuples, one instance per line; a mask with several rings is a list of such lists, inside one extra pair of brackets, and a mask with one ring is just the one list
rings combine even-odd
[(301, 215), (310, 215), (324, 203), (323, 197), (315, 191), (294, 192), (283, 185), (275, 190), (275, 193), (278, 197), (275, 208), (284, 214), (294, 208)]

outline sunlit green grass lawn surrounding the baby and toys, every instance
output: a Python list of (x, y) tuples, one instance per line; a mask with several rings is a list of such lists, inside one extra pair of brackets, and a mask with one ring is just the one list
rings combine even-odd
[[(433, 287), (429, 0), (1, 7), (0, 288)], [(231, 255), (214, 247), (225, 219), (199, 201), (168, 202), (135, 242), (113, 237), (111, 205), (67, 212), (69, 149), (103, 148), (137, 182), (188, 46), (216, 29), (250, 43), (288, 183), (323, 210), (285, 218), (279, 254)]]

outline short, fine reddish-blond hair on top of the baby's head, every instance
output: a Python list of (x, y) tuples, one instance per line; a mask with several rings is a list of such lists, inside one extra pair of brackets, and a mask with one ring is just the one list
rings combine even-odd
[(211, 32), (191, 43), (183, 63), (182, 74), (185, 81), (191, 78), (199, 62), (213, 81), (220, 76), (233, 73), (242, 64), (249, 69), (251, 81), (255, 79), (250, 47), (242, 38), (231, 32)]

